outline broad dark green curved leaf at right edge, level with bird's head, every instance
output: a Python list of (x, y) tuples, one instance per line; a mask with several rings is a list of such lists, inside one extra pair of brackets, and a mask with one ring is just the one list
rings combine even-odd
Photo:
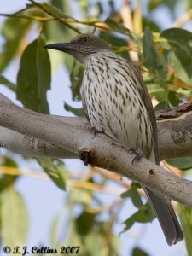
[(171, 65), (177, 76), (184, 82), (192, 83), (192, 33), (181, 29), (171, 28), (160, 34), (166, 38), (166, 43), (171, 46)]

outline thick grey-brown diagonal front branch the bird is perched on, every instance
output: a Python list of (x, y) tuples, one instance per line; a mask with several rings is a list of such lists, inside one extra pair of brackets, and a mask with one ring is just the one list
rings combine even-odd
[(79, 154), (87, 164), (118, 172), (192, 207), (191, 182), (145, 159), (132, 165), (133, 155), (125, 148), (105, 135), (95, 137), (84, 119), (79, 125), (72, 120), (73, 118), (65, 118), (61, 121), (17, 107), (10, 102), (0, 102), (0, 125), (3, 127)]

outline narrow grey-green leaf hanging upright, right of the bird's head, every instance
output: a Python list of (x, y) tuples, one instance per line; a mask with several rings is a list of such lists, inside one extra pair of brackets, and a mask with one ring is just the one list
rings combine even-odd
[(167, 78), (166, 60), (154, 46), (153, 35), (148, 26), (143, 36), (143, 58), (145, 66), (153, 70), (161, 79)]

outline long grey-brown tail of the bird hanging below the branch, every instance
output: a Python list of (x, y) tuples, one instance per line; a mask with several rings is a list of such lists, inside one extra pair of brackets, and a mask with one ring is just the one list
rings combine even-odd
[(153, 191), (143, 186), (143, 189), (148, 196), (148, 201), (157, 216), (160, 226), (166, 236), (166, 241), (169, 246), (183, 240), (183, 231), (177, 220), (177, 216), (172, 208), (170, 199), (154, 194)]

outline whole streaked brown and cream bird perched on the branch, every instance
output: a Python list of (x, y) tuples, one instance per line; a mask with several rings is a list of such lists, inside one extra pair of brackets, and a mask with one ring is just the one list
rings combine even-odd
[[(84, 115), (92, 129), (104, 132), (128, 150), (160, 164), (154, 108), (137, 65), (117, 55), (93, 34), (79, 34), (67, 43), (47, 44), (72, 55), (85, 66), (82, 81)], [(133, 160), (133, 161), (134, 161)], [(166, 195), (141, 184), (169, 246), (183, 240), (183, 230)]]

